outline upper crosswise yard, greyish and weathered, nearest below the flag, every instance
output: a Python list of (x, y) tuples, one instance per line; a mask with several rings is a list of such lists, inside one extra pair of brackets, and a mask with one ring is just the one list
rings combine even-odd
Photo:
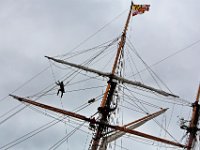
[[(144, 89), (147, 89), (147, 90), (150, 90), (150, 91), (154, 91), (154, 92), (156, 92), (156, 93), (158, 93), (160, 95), (163, 95), (163, 96), (171, 96), (171, 97), (178, 98), (177, 95), (165, 92), (163, 90), (159, 90), (159, 89), (153, 88), (151, 86), (142, 84), (141, 82), (138, 82), (138, 81), (131, 81), (131, 80), (119, 77), (119, 76), (117, 76), (115, 74), (106, 73), (106, 72), (102, 72), (102, 71), (99, 71), (99, 70), (91, 69), (89, 67), (73, 64), (73, 63), (70, 63), (70, 62), (67, 62), (67, 61), (64, 61), (64, 60), (60, 60), (60, 59), (56, 59), (56, 58), (53, 58), (53, 57), (49, 57), (49, 56), (45, 56), (45, 57), (48, 58), (48, 59), (51, 59), (51, 60), (53, 60), (55, 62), (58, 62), (58, 63), (62, 63), (62, 64), (69, 65), (69, 66), (74, 67), (74, 68), (78, 68), (78, 69), (82, 69), (84, 71), (95, 73), (95, 74), (97, 74), (99, 76), (112, 78), (112, 79), (115, 79), (115, 80), (117, 80), (119, 82), (122, 82), (122, 83), (130, 84), (130, 85), (137, 86), (137, 87), (140, 87), (140, 88), (144, 88)], [(110, 89), (110, 85), (107, 88)], [(108, 90), (106, 90), (106, 91), (108, 93)], [(107, 95), (106, 92), (105, 92), (105, 95)], [(103, 106), (103, 104), (102, 104), (102, 106)]]

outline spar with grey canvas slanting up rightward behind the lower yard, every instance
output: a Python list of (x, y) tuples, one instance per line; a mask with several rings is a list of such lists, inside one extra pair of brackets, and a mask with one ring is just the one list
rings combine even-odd
[[(135, 128), (138, 128), (138, 127), (142, 126), (143, 124), (145, 124), (149, 120), (152, 120), (153, 118), (156, 118), (157, 116), (161, 115), (162, 113), (164, 113), (166, 111), (167, 111), (167, 109), (162, 109), (162, 110), (160, 110), (158, 112), (149, 114), (149, 115), (147, 115), (147, 116), (145, 116), (143, 118), (140, 118), (140, 119), (135, 120), (135, 121), (133, 121), (131, 123), (128, 123), (128, 124), (124, 125), (123, 127), (126, 127), (126, 128), (128, 128), (130, 130), (133, 130)], [(103, 140), (102, 140), (102, 143), (101, 143), (101, 146), (100, 146), (100, 150), (106, 150), (107, 145), (109, 143), (119, 139), (120, 137), (122, 137), (125, 134), (126, 133), (122, 132), (122, 131), (111, 131), (108, 136), (103, 137)]]

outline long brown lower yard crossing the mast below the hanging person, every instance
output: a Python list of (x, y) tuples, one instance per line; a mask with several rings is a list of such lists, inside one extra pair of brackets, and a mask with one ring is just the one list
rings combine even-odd
[(17, 100), (19, 100), (20, 102), (32, 104), (34, 106), (37, 106), (37, 107), (40, 107), (40, 108), (44, 108), (44, 109), (47, 109), (47, 110), (51, 110), (51, 111), (54, 111), (54, 112), (57, 112), (57, 113), (61, 113), (63, 115), (67, 115), (67, 116), (74, 117), (74, 118), (77, 118), (77, 119), (80, 119), (80, 120), (84, 120), (84, 121), (87, 121), (87, 122), (91, 122), (91, 123), (99, 124), (99, 125), (102, 125), (102, 126), (106, 126), (106, 127), (111, 128), (111, 129), (114, 129), (114, 130), (123, 131), (123, 132), (126, 132), (126, 133), (130, 133), (130, 134), (133, 134), (133, 135), (137, 135), (137, 136), (144, 137), (144, 138), (147, 138), (147, 139), (150, 139), (150, 140), (162, 142), (162, 143), (165, 143), (165, 144), (169, 144), (169, 145), (173, 145), (173, 146), (177, 146), (177, 147), (181, 147), (181, 148), (185, 148), (186, 147), (183, 144), (176, 143), (176, 142), (169, 141), (169, 140), (162, 139), (162, 138), (158, 138), (158, 137), (155, 137), (155, 136), (143, 133), (143, 132), (139, 132), (139, 131), (136, 131), (136, 130), (130, 130), (130, 129), (124, 127), (124, 126), (116, 126), (116, 125), (106, 124), (104, 122), (96, 121), (96, 120), (94, 120), (92, 118), (88, 118), (88, 117), (85, 117), (83, 115), (80, 115), (80, 114), (77, 114), (77, 113), (74, 113), (74, 112), (70, 112), (70, 111), (66, 111), (66, 110), (63, 110), (63, 109), (55, 108), (55, 107), (52, 107), (52, 106), (49, 106), (49, 105), (46, 105), (46, 104), (38, 103), (38, 102), (32, 101), (32, 100), (27, 99), (27, 98), (15, 96), (15, 95), (10, 95), (10, 96), (15, 98), (15, 99), (17, 99)]

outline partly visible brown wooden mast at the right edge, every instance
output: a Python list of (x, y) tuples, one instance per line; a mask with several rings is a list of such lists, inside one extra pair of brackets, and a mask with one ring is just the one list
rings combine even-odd
[(193, 103), (192, 119), (187, 129), (187, 131), (189, 132), (187, 150), (191, 150), (193, 148), (195, 140), (196, 140), (196, 134), (198, 131), (199, 114), (200, 114), (199, 98), (200, 98), (200, 84), (199, 84), (199, 89), (197, 92), (196, 101)]

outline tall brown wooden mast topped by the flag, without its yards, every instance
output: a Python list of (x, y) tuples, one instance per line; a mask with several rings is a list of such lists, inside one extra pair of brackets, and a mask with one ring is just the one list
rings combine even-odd
[[(108, 122), (108, 116), (110, 114), (109, 112), (109, 108), (110, 108), (110, 104), (111, 104), (111, 100), (116, 88), (116, 84), (115, 82), (112, 81), (112, 75), (115, 74), (116, 68), (117, 68), (117, 63), (119, 61), (119, 56), (122, 52), (122, 49), (124, 48), (124, 44), (125, 44), (125, 40), (126, 40), (126, 31), (128, 29), (128, 24), (130, 22), (130, 18), (131, 18), (131, 10), (132, 10), (132, 6), (133, 6), (133, 2), (131, 3), (131, 7), (129, 10), (129, 14), (128, 14), (128, 18), (126, 20), (126, 24), (123, 30), (123, 33), (121, 35), (121, 40), (119, 42), (119, 47), (117, 49), (117, 54), (115, 56), (115, 61), (112, 67), (112, 73), (111, 73), (111, 77), (110, 77), (110, 81), (108, 82), (106, 91), (104, 93), (103, 99), (101, 101), (101, 106), (98, 108), (98, 111), (100, 113), (100, 122)], [(99, 145), (100, 145), (100, 140), (102, 138), (102, 133), (103, 131), (105, 131), (106, 126), (103, 125), (98, 125), (96, 133), (94, 138), (92, 139), (92, 146), (91, 146), (91, 150), (97, 150)]]

